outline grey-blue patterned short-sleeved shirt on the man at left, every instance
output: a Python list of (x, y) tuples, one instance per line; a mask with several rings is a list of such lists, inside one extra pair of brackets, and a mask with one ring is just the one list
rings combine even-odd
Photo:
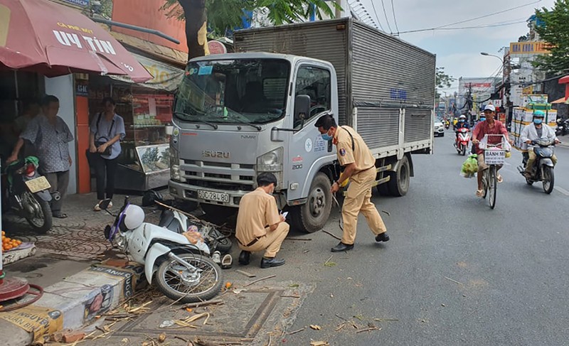
[(69, 171), (69, 142), (73, 134), (60, 117), (55, 117), (55, 126), (43, 114), (30, 120), (21, 139), (31, 141), (36, 148), (43, 173)]

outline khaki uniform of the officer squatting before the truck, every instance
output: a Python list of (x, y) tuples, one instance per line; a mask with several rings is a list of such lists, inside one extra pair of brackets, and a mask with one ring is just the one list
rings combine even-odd
[(265, 250), (265, 257), (277, 256), (282, 242), (289, 233), (287, 222), (280, 222), (277, 229), (270, 230), (270, 225), (280, 222), (277, 201), (261, 188), (241, 198), (237, 215), (235, 237), (242, 250), (257, 252)]

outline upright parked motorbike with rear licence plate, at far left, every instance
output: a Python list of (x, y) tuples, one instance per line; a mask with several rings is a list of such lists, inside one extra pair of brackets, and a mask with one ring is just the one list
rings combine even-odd
[(28, 156), (6, 168), (9, 205), (20, 217), (28, 220), (34, 231), (45, 234), (51, 229), (53, 217), (50, 201), (59, 200), (59, 193), (49, 193), (46, 177), (38, 173), (39, 160)]

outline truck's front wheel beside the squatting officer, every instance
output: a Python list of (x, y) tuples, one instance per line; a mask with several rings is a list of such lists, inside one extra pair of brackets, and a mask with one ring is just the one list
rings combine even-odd
[(330, 179), (324, 173), (318, 173), (308, 193), (308, 200), (304, 205), (294, 207), (292, 210), (292, 226), (304, 232), (317, 232), (328, 221), (332, 207), (332, 194), (330, 193)]

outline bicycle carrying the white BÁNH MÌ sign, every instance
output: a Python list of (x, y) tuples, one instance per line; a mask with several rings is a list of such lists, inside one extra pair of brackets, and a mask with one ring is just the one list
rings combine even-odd
[[(500, 143), (489, 144), (489, 137), (501, 137)], [(491, 209), (496, 207), (496, 188), (498, 186), (498, 166), (504, 166), (506, 151), (510, 151), (508, 141), (503, 134), (486, 134), (480, 141), (479, 148), (484, 150), (484, 163), (488, 168), (482, 172), (483, 197), (489, 193), (488, 204)]]

